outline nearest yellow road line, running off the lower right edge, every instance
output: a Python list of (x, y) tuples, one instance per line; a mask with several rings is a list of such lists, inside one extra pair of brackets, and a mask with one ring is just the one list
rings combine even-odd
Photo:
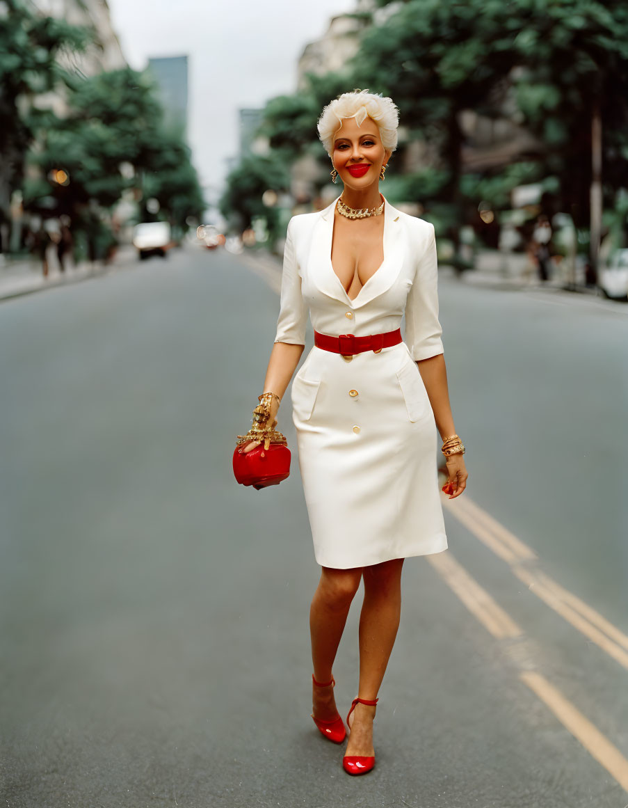
[(618, 747), (601, 734), (597, 726), (594, 726), (588, 718), (584, 718), (584, 715), (571, 704), (571, 701), (568, 701), (540, 673), (521, 671), (519, 678), (551, 709), (559, 722), (567, 727), (576, 740), (580, 741), (589, 755), (604, 766), (610, 776), (614, 777), (622, 786), (622, 789), (628, 791), (628, 760), (618, 750)]

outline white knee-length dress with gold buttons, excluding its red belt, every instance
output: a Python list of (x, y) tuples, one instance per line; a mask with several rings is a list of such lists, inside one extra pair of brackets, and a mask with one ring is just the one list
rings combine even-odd
[(292, 381), (292, 419), (316, 562), (348, 569), (447, 549), (438, 431), (415, 360), (443, 352), (433, 225), (385, 201), (383, 263), (351, 300), (333, 271), (333, 213), (292, 217), (274, 342), (323, 334), (404, 342), (350, 361), (316, 346)]

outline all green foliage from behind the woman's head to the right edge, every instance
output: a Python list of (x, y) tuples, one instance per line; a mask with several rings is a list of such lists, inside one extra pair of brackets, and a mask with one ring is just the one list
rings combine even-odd
[[(329, 182), (329, 157), (316, 137), (316, 120), (329, 100), (360, 86), (391, 95), (401, 123), (435, 146), (440, 157), (417, 174), (389, 174), (387, 196), (425, 204), (425, 215), (438, 217), (452, 232), (456, 222), (471, 221), (479, 200), (507, 208), (513, 187), (544, 178), (558, 185), (558, 207), (579, 226), (588, 223), (596, 105), (603, 121), (605, 200), (613, 204), (617, 189), (628, 187), (624, 0), (379, 0), (378, 5), (391, 5), (391, 14), (366, 29), (345, 69), (310, 74), (304, 90), (268, 103), (264, 132), (283, 160), (315, 154), (320, 183)], [(467, 174), (459, 124), (466, 110), (494, 120), (510, 117), (542, 146), (511, 166)], [(401, 143), (396, 162), (403, 164), (403, 158)], [(229, 182), (234, 179), (241, 182), (239, 175)], [(260, 182), (258, 191), (266, 187)]]

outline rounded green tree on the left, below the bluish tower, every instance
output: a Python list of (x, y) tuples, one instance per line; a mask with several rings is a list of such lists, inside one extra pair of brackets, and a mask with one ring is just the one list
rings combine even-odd
[[(187, 217), (201, 216), (205, 205), (190, 149), (165, 127), (148, 74), (124, 68), (75, 79), (68, 104), (65, 118), (48, 116), (31, 152), (41, 175), (27, 183), (27, 207), (40, 208), (52, 195), (57, 213), (89, 223), (94, 203), (111, 208), (125, 190), (134, 188), (140, 221), (153, 218), (145, 207), (151, 197), (159, 201), (159, 217), (179, 234)], [(67, 183), (54, 181), (58, 169)], [(88, 204), (89, 215), (84, 209)]]

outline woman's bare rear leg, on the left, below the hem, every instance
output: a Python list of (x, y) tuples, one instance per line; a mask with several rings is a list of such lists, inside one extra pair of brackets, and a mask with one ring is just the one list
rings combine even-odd
[[(333, 660), (345, 629), (345, 623), (354, 595), (362, 579), (362, 567), (335, 570), (323, 567), (320, 581), (310, 608), (310, 635), (312, 637), (312, 663), (317, 682), (332, 678)], [(317, 688), (312, 684), (313, 714), (320, 721), (337, 716), (333, 686)]]

